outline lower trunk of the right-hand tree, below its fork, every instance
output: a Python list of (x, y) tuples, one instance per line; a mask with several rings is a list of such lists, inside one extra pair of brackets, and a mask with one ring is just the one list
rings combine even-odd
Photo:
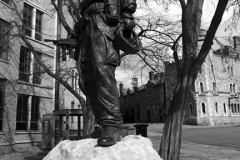
[(164, 160), (178, 160), (180, 154), (182, 123), (191, 85), (178, 85), (181, 87), (173, 95), (160, 144), (159, 154)]

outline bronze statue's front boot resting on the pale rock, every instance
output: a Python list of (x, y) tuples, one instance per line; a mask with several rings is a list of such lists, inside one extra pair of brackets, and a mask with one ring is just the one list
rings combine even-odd
[(102, 135), (97, 140), (98, 146), (112, 146), (120, 140), (119, 125), (103, 125)]

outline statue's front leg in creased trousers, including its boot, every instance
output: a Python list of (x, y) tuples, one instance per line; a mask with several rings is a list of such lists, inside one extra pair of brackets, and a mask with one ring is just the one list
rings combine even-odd
[(102, 136), (98, 139), (98, 145), (111, 146), (116, 143), (119, 137), (119, 126), (123, 122), (115, 79), (119, 50), (113, 41), (96, 28), (96, 24), (93, 25), (90, 28), (91, 59), (102, 126)]

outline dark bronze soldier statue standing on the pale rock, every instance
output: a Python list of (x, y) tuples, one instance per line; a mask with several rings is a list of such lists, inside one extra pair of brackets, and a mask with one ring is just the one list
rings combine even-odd
[(115, 69), (119, 50), (136, 53), (141, 42), (133, 31), (136, 0), (83, 0), (82, 20), (75, 24), (74, 58), (82, 75), (79, 85), (89, 97), (96, 122), (101, 125), (99, 146), (116, 144), (123, 123)]

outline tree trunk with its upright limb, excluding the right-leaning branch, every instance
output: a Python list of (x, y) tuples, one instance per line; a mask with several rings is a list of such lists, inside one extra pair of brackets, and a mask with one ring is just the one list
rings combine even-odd
[(188, 106), (197, 71), (191, 71), (197, 57), (198, 37), (201, 26), (204, 0), (182, 2), (182, 43), (181, 64), (175, 58), (177, 84), (170, 103), (167, 120), (161, 139), (159, 154), (164, 160), (178, 160), (181, 148), (182, 124), (185, 108)]

